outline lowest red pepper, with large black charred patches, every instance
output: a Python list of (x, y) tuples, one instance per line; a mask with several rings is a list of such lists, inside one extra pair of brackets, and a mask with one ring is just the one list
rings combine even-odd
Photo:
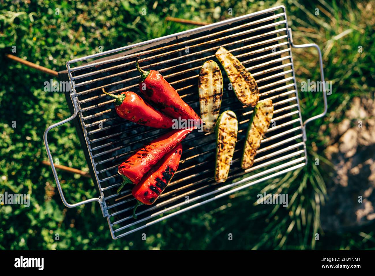
[(177, 171), (181, 154), (182, 145), (179, 143), (147, 172), (141, 182), (134, 186), (132, 195), (137, 199), (133, 210), (134, 219), (136, 219), (135, 210), (140, 204), (153, 204), (165, 190)]

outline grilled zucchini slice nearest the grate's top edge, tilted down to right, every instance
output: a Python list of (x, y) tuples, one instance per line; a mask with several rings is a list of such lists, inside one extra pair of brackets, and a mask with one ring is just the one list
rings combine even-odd
[(254, 77), (245, 66), (223, 47), (216, 51), (216, 58), (222, 64), (234, 93), (245, 106), (256, 106), (259, 101), (259, 90)]

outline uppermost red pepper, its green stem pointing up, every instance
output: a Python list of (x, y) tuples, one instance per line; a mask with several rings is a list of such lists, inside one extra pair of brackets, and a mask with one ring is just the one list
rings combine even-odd
[(136, 67), (141, 74), (139, 90), (144, 97), (158, 109), (172, 118), (200, 120), (194, 110), (185, 103), (177, 91), (155, 70), (142, 70), (136, 61)]

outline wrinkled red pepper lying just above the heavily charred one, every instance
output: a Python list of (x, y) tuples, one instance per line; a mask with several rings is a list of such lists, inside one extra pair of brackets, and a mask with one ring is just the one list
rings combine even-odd
[(151, 167), (192, 131), (193, 128), (172, 130), (153, 140), (149, 145), (139, 148), (135, 154), (118, 166), (118, 173), (124, 176), (124, 181), (118, 188), (117, 193), (126, 183), (138, 184)]

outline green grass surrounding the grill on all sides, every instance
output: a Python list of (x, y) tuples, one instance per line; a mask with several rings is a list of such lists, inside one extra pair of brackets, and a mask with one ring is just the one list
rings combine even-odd
[[(15, 4), (18, 3), (18, 4)], [(371, 4), (372, 3), (372, 6)], [(191, 28), (166, 23), (165, 16), (215, 22), (284, 4), (296, 44), (316, 42), (324, 57), (326, 80), (333, 81), (329, 114), (308, 125), (308, 166), (267, 183), (196, 208), (181, 216), (135, 232), (120, 240), (110, 237), (98, 204), (64, 208), (46, 160), (43, 131), (70, 113), (59, 92), (45, 92), (50, 77), (5, 59), (16, 56), (62, 70), (74, 57)], [(60, 14), (55, 15), (55, 9)], [(316, 16), (315, 8), (320, 10)], [(147, 14), (141, 14), (146, 9)], [(374, 3), (350, 1), (4, 1), (0, 11), (0, 193), (30, 193), (29, 208), (0, 207), (0, 249), (374, 249), (374, 230), (324, 233), (320, 206), (327, 200), (323, 150), (329, 136), (321, 125), (340, 122), (354, 96), (374, 92)], [(363, 51), (359, 53), (358, 47)], [(319, 80), (315, 50), (294, 50), (297, 83)], [(320, 93), (300, 92), (303, 118), (323, 110)], [(17, 127), (12, 128), (16, 121)], [(50, 147), (59, 163), (88, 171), (71, 124), (51, 131)], [(320, 164), (315, 166), (315, 158)], [(326, 163), (326, 164), (324, 164)], [(91, 179), (58, 172), (68, 202), (98, 196)], [(288, 208), (255, 205), (259, 192), (288, 193)], [(141, 234), (147, 240), (141, 240)], [(228, 240), (228, 234), (233, 240)], [(315, 240), (315, 234), (320, 240)], [(55, 241), (55, 234), (60, 240)]]

